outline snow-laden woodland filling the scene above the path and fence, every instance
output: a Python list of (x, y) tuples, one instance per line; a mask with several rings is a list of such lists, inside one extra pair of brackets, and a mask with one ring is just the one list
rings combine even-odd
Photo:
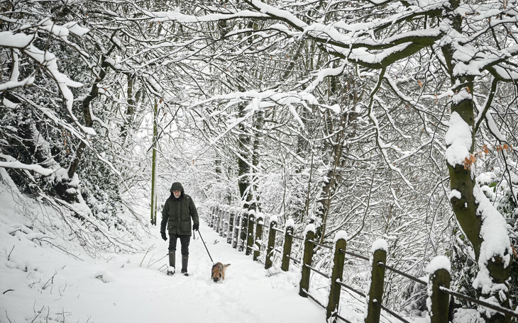
[(446, 251), (453, 208), (473, 287), (508, 305), (515, 1), (0, 6), (0, 166), (18, 183), (101, 205), (147, 185), (155, 150), (159, 192), (180, 179), (315, 222), (322, 242), (346, 229), (360, 251), (382, 236), (417, 274)]

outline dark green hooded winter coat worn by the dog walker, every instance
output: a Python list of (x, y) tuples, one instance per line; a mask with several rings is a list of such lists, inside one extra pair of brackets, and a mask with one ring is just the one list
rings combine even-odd
[[(165, 201), (162, 210), (162, 222), (160, 223), (160, 232), (167, 231), (170, 234), (191, 235), (192, 222), (199, 225), (198, 211), (194, 206), (194, 201), (190, 196), (184, 193), (182, 184), (172, 183), (171, 196)], [(181, 191), (180, 198), (175, 198), (172, 191)], [(192, 222), (191, 222), (192, 219)]]

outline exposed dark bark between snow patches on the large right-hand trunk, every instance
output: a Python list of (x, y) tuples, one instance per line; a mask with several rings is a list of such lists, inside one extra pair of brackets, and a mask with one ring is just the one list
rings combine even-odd
[[(451, 5), (451, 16), (448, 18), (451, 18), (451, 21), (453, 21), (453, 28), (458, 33), (462, 33), (462, 17), (455, 11), (459, 5), (458, 1), (452, 0)], [(468, 147), (470, 155), (469, 157), (466, 157), (466, 159), (470, 159), (470, 157), (475, 153), (475, 103), (473, 102), (472, 96), (474, 93), (475, 76), (458, 76), (458, 72), (455, 70), (458, 62), (454, 58), (454, 49), (452, 45), (446, 45), (443, 47), (443, 55), (446, 58), (448, 71), (451, 77), (451, 84), (454, 87), (453, 91), (456, 93), (456, 96), (458, 94), (458, 97), (461, 98), (458, 99), (454, 96), (451, 106), (452, 116), (453, 113), (458, 113), (462, 120), (468, 124), (471, 132), (471, 145)], [(467, 94), (465, 93), (466, 91), (468, 92)], [(462, 94), (462, 96), (460, 94)], [(446, 148), (448, 149), (448, 147), (449, 146)], [(473, 250), (475, 251), (475, 260), (478, 262), (480, 267), (486, 267), (479, 268), (478, 275), (485, 272), (485, 269), (487, 269), (491, 280), (490, 285), (487, 286), (488, 288), (481, 288), (478, 286), (477, 292), (479, 296), (483, 298), (495, 297), (498, 302), (500, 302), (501, 306), (509, 308), (509, 285), (507, 283), (507, 279), (510, 275), (512, 261), (505, 261), (502, 256), (496, 254), (490, 256), (487, 263), (485, 259), (480, 259), (481, 249), (485, 243), (485, 234), (482, 232), (484, 225), (483, 216), (485, 215), (485, 212), (488, 211), (480, 208), (480, 201), (478, 201), (475, 196), (475, 192), (480, 191), (480, 188), (478, 187), (478, 183), (475, 181), (475, 174), (472, 173), (471, 164), (469, 163), (469, 160), (465, 164), (451, 164), (451, 161), (448, 161), (447, 164), (450, 175), (451, 191), (458, 191), (461, 193), (460, 198), (455, 194), (452, 194), (450, 198), (453, 212), (456, 215), (458, 224), (461, 226), (463, 232), (473, 246)], [(475, 165), (473, 165), (473, 167), (474, 166)], [(487, 221), (487, 219), (485, 221)], [(487, 257), (487, 255), (485, 256)], [(510, 257), (509, 254), (505, 254), (503, 256)], [(498, 287), (498, 285), (505, 285), (507, 288), (501, 288)], [(482, 311), (481, 314), (486, 322), (508, 323), (511, 320), (511, 317), (507, 316), (506, 318), (504, 314), (497, 312)]]

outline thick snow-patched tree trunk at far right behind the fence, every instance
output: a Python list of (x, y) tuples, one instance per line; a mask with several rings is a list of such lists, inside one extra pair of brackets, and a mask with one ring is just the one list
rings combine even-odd
[[(451, 21), (458, 33), (461, 33), (462, 17), (456, 13), (455, 9), (458, 7), (457, 1), (451, 1), (452, 11)], [(448, 64), (448, 70), (451, 76), (451, 84), (454, 86), (452, 106), (451, 106), (451, 122), (450, 129), (453, 127), (467, 125), (470, 131), (470, 145), (463, 140), (458, 140), (459, 135), (462, 135), (458, 129), (451, 132), (448, 137), (446, 135), (446, 161), (448, 164), (448, 171), (450, 174), (451, 186), (451, 205), (453, 212), (456, 215), (458, 224), (461, 226), (465, 236), (468, 237), (473, 250), (475, 251), (475, 260), (478, 262), (478, 275), (475, 278), (474, 287), (482, 298), (495, 297), (500, 305), (509, 308), (509, 285), (508, 280), (511, 268), (511, 257), (509, 254), (510, 240), (505, 228), (505, 220), (502, 215), (495, 210), (490, 203), (485, 203), (485, 196), (480, 191), (478, 184), (475, 181), (475, 174), (472, 173), (473, 161), (475, 159), (475, 103), (473, 102), (473, 90), (476, 76), (463, 75), (459, 76), (455, 67), (456, 61), (455, 52), (452, 45), (443, 47), (443, 55)], [(460, 116), (461, 120), (458, 120)], [(467, 130), (465, 130), (467, 132)], [(465, 136), (465, 137), (469, 137)], [(464, 145), (462, 145), (464, 143)], [(469, 146), (469, 147), (468, 147)], [(453, 158), (453, 152), (459, 154), (467, 150), (464, 162)], [(453, 151), (454, 150), (454, 151)], [(473, 165), (472, 165), (473, 164)], [(459, 194), (460, 193), (460, 194)], [(491, 248), (495, 242), (489, 241), (487, 229), (483, 231), (485, 221), (492, 222), (491, 231), (498, 230), (500, 227), (500, 239), (507, 237), (507, 246), (500, 246), (499, 249)], [(503, 222), (502, 225), (494, 227), (498, 222)], [(505, 237), (502, 237), (505, 236)], [(495, 253), (495, 254), (493, 254)], [(485, 268), (484, 268), (485, 267)], [(482, 316), (486, 322), (510, 322), (510, 317), (493, 312), (481, 311)]]

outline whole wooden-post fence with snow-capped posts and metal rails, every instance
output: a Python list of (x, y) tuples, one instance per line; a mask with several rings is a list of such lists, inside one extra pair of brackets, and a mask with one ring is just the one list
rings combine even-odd
[[(387, 243), (385, 240), (374, 242), (371, 248), (370, 258), (355, 254), (346, 250), (347, 237), (346, 233), (338, 232), (334, 239), (334, 246), (320, 244), (314, 241), (314, 226), (308, 225), (304, 230), (304, 237), (297, 237), (293, 234), (294, 222), (288, 220), (285, 223), (285, 229), (277, 228), (277, 217), (270, 216), (268, 226), (268, 243), (263, 243), (263, 227), (264, 217), (261, 213), (255, 214), (253, 210), (247, 211), (239, 208), (233, 208), (230, 205), (211, 205), (209, 214), (206, 216), (209, 227), (219, 232), (221, 237), (226, 237), (226, 242), (238, 251), (245, 251), (246, 255), (253, 254), (254, 261), (261, 261), (259, 258), (263, 251), (265, 269), (272, 267), (272, 257), (275, 253), (282, 254), (281, 270), (288, 271), (290, 261), (294, 263), (302, 263), (301, 280), (299, 283), (299, 295), (314, 300), (318, 305), (326, 310), (326, 319), (328, 322), (337, 322), (341, 319), (343, 322), (350, 323), (346, 318), (338, 314), (341, 290), (346, 288), (351, 290), (365, 299), (365, 323), (379, 323), (381, 310), (384, 310), (393, 317), (402, 322), (409, 323), (401, 317), (397, 312), (390, 310), (382, 305), (383, 287), (385, 283), (385, 271), (393, 271), (405, 278), (414, 280), (421, 285), (428, 286), (429, 298), (426, 301), (429, 318), (431, 323), (448, 323), (448, 306), (449, 297), (458, 297), (463, 300), (474, 302), (490, 308), (509, 317), (518, 317), (518, 312), (501, 307), (495, 303), (478, 300), (461, 293), (450, 290), (450, 263), (445, 256), (438, 256), (432, 259), (429, 264), (429, 280), (428, 282), (420, 278), (411, 276), (407, 273), (392, 268), (387, 265)], [(254, 229), (255, 224), (255, 229)], [(275, 247), (277, 233), (283, 235), (282, 250)], [(302, 242), (304, 249), (302, 259), (292, 257), (293, 240)], [(266, 246), (266, 249), (263, 249)], [(333, 266), (331, 268), (331, 276), (319, 271), (312, 266), (314, 246), (330, 249), (334, 251)], [(264, 252), (265, 251), (265, 252)], [(365, 292), (347, 285), (343, 282), (343, 265), (345, 256), (353, 256), (370, 262), (370, 282)], [(321, 276), (331, 280), (329, 298), (327, 305), (322, 304), (320, 300), (309, 293), (309, 277), (311, 272), (318, 273)]]

